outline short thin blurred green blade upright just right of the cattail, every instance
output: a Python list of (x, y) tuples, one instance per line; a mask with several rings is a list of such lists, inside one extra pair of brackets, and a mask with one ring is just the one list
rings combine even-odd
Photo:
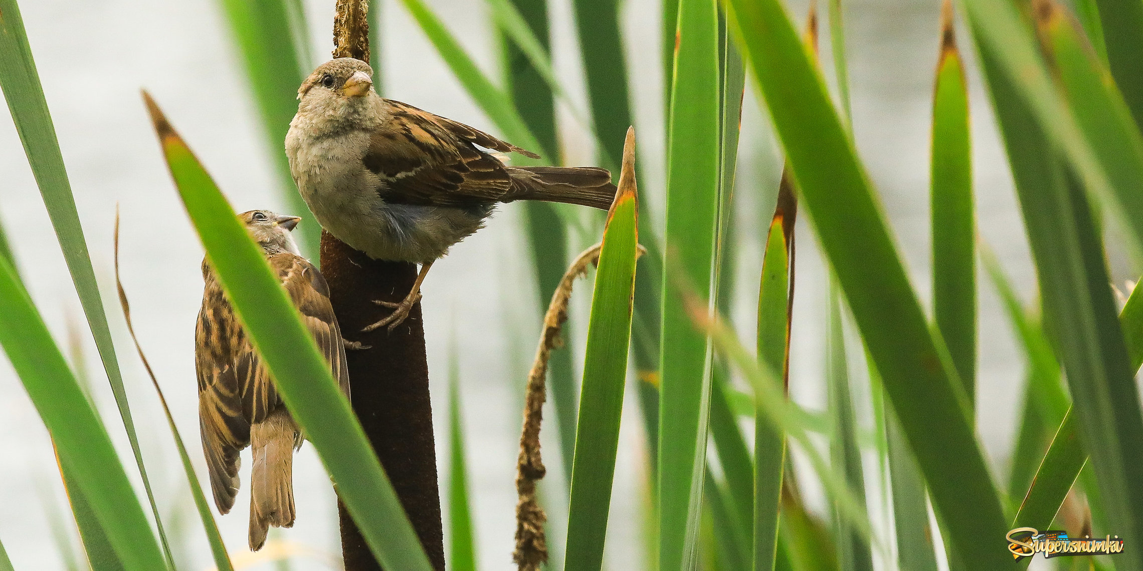
[(461, 360), (455, 338), (448, 357), (448, 569), (477, 571), (472, 510), (469, 507), (469, 471), (464, 459), (464, 420), (461, 416)]

